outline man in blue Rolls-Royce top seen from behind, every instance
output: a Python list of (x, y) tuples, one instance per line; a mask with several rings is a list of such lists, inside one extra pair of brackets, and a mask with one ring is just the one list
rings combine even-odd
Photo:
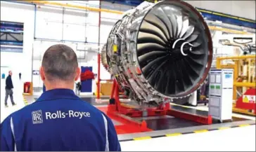
[(110, 118), (75, 95), (79, 74), (72, 48), (48, 48), (40, 68), (46, 92), (4, 120), (0, 150), (121, 151)]

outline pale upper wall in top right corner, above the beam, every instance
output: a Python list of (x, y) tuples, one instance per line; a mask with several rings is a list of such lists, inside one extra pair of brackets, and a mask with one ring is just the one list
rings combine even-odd
[(253, 1), (186, 1), (198, 8), (235, 15), (255, 20), (255, 0)]

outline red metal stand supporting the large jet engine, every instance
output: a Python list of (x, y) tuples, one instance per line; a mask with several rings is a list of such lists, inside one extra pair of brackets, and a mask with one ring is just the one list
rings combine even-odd
[(110, 95), (110, 104), (108, 104), (108, 115), (113, 116), (121, 121), (125, 121), (128, 123), (132, 123), (140, 128), (141, 132), (148, 131), (148, 127), (146, 121), (143, 120), (142, 123), (132, 118), (143, 117), (146, 113), (146, 116), (174, 116), (177, 118), (184, 118), (186, 120), (193, 120), (197, 123), (203, 123), (205, 125), (212, 124), (211, 116), (197, 116), (191, 113), (184, 113), (182, 111), (176, 111), (174, 109), (170, 109), (169, 103), (163, 104), (156, 108), (148, 108), (145, 111), (141, 111), (141, 109), (136, 109), (136, 107), (127, 106), (120, 102), (119, 91), (120, 88), (117, 84), (117, 81), (113, 81), (113, 88)]

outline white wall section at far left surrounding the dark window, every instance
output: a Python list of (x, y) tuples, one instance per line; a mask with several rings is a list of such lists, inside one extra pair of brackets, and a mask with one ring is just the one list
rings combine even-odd
[(21, 72), (23, 81), (31, 81), (34, 6), (1, 1), (1, 20), (24, 23), (23, 53), (1, 52), (1, 66), (8, 66), (15, 76)]

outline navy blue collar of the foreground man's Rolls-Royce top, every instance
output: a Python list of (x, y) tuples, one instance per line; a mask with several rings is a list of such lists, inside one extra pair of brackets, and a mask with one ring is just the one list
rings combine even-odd
[(79, 97), (77, 97), (75, 92), (70, 89), (53, 89), (41, 94), (41, 96), (37, 99), (37, 102), (53, 99), (79, 99)]

